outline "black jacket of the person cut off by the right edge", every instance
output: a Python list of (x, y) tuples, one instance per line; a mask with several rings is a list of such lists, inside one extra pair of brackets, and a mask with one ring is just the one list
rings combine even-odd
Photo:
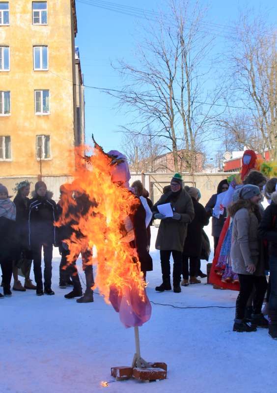
[(275, 194), (273, 201), (263, 213), (258, 229), (259, 237), (268, 241), (268, 252), (269, 255), (273, 256), (277, 256), (277, 193)]

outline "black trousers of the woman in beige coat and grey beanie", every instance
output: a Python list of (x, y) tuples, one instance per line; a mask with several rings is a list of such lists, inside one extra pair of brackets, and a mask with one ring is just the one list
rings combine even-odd
[(267, 290), (267, 281), (265, 276), (254, 276), (239, 274), (240, 293), (236, 301), (236, 319), (243, 319), (247, 301), (253, 288), (256, 289), (253, 298), (253, 313), (260, 314)]

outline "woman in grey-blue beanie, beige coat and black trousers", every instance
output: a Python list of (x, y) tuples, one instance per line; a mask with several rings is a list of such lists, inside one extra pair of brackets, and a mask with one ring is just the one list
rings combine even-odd
[[(229, 207), (229, 214), (233, 219), (231, 262), (233, 272), (239, 277), (240, 292), (236, 301), (233, 331), (254, 332), (256, 327), (268, 327), (268, 321), (261, 313), (267, 280), (258, 238), (258, 226), (261, 221), (260, 189), (247, 184), (239, 189), (235, 200)], [(253, 288), (253, 313), (249, 321), (245, 318), (245, 309)]]

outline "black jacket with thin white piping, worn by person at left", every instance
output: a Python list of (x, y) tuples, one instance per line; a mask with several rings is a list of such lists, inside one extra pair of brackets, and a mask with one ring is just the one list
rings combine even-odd
[(31, 247), (36, 243), (56, 244), (57, 217), (56, 203), (47, 197), (34, 197), (30, 200), (28, 217), (28, 243)]

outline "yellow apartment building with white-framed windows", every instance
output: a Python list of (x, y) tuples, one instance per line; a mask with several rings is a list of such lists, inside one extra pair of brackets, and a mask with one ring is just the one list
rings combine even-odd
[(76, 89), (76, 76), (82, 84), (76, 34), (75, 0), (0, 0), (4, 184), (8, 178), (12, 184), (42, 175), (57, 189), (72, 173), (74, 145), (84, 140), (83, 86)]

